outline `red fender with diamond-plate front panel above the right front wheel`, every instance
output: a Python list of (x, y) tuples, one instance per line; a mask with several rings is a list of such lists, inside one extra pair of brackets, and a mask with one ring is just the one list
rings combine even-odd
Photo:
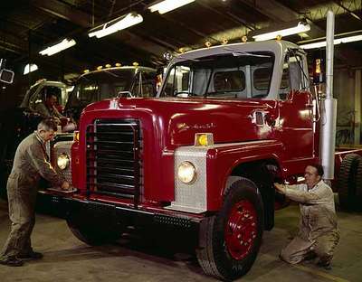
[[(178, 147), (175, 151), (175, 200), (168, 208), (195, 213), (218, 211), (233, 169), (239, 164), (263, 159), (273, 159), (280, 164), (281, 148), (281, 142), (275, 140)], [(182, 183), (177, 178), (178, 165), (185, 161), (195, 166), (194, 183)]]

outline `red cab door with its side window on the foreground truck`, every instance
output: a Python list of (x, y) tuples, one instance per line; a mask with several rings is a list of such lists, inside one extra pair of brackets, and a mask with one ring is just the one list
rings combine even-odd
[(284, 145), (284, 162), (300, 165), (310, 163), (315, 157), (312, 97), (307, 90), (309, 78), (305, 60), (298, 52), (286, 55), (276, 128)]

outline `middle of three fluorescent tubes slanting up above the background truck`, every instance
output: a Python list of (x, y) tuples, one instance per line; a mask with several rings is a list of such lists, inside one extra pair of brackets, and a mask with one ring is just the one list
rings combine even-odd
[(119, 20), (113, 20), (109, 23), (101, 25), (102, 26), (101, 29), (96, 30), (95, 32), (88, 33), (88, 36), (90, 37), (95, 36), (97, 38), (100, 38), (109, 35), (110, 33), (116, 33), (120, 30), (128, 28), (129, 26), (139, 24), (142, 22), (143, 22), (142, 15), (136, 13), (129, 13), (119, 17)]

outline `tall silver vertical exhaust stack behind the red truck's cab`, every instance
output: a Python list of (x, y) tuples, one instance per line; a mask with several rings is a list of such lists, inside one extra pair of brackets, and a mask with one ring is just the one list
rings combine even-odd
[(334, 178), (336, 149), (337, 99), (333, 99), (334, 14), (327, 13), (326, 99), (321, 102), (319, 159), (324, 168), (324, 179)]

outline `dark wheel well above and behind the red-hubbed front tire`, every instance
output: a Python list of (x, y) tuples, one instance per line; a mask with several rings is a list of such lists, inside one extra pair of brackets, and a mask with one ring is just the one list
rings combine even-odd
[(230, 176), (242, 176), (256, 184), (262, 194), (264, 227), (266, 230), (271, 230), (274, 226), (275, 190), (273, 183), (281, 177), (279, 164), (274, 159), (243, 163), (235, 166)]

